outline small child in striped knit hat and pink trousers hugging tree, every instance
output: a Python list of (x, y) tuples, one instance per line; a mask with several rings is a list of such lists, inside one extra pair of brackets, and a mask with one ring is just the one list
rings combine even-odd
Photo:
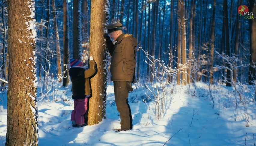
[(72, 99), (74, 99), (74, 110), (71, 113), (72, 127), (86, 126), (84, 114), (87, 111), (87, 101), (91, 96), (89, 78), (96, 73), (96, 62), (90, 56), (90, 68), (86, 70), (83, 63), (77, 59), (70, 59), (69, 76), (72, 82)]

